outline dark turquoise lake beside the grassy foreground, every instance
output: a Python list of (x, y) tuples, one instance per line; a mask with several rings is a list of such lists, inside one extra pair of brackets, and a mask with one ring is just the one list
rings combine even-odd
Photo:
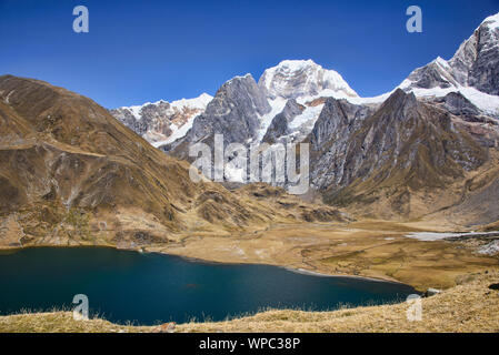
[(211, 264), (107, 247), (34, 247), (0, 253), (0, 314), (70, 308), (118, 323), (220, 321), (267, 307), (326, 311), (401, 302), (410, 286), (300, 274), (269, 265)]

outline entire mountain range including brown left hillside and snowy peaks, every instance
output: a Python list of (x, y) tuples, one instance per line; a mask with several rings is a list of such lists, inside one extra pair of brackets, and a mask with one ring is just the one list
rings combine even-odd
[[(499, 221), (499, 14), (449, 61), (361, 98), (333, 70), (285, 60), (214, 97), (107, 110), (0, 77), (0, 244), (182, 243), (270, 224), (352, 219)], [(309, 143), (310, 189), (189, 178), (189, 146)], [(151, 145), (153, 144), (153, 145)], [(158, 149), (159, 148), (159, 149)]]

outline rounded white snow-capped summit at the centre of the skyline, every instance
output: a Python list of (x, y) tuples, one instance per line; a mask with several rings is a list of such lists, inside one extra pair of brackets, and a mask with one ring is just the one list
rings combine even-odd
[(258, 84), (270, 100), (317, 97), (325, 90), (328, 95), (358, 97), (338, 72), (323, 69), (310, 59), (283, 60), (267, 69)]

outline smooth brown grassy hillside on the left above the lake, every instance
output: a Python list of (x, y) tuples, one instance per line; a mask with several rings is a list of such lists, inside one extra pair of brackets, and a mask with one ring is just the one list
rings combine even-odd
[[(266, 204), (251, 201), (249, 190), (193, 183), (189, 166), (90, 99), (33, 79), (0, 77), (2, 246), (140, 247), (177, 242), (192, 231), (230, 235), (316, 213), (312, 205), (280, 207), (296, 197), (276, 189)], [(333, 209), (321, 211), (339, 220)]]

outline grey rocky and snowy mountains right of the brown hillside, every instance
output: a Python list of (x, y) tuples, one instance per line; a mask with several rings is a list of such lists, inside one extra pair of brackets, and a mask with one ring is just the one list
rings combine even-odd
[[(251, 74), (229, 80), (190, 118), (183, 136), (153, 144), (191, 161), (188, 148), (212, 145), (214, 134), (248, 146), (310, 143), (313, 201), (371, 217), (459, 210), (467, 223), (491, 223), (497, 209), (478, 213), (470, 201), (497, 199), (498, 39), (499, 13), (485, 19), (450, 60), (439, 57), (375, 98), (359, 97), (339, 73), (312, 60), (285, 60), (258, 82)], [(485, 190), (469, 190), (476, 180)]]

